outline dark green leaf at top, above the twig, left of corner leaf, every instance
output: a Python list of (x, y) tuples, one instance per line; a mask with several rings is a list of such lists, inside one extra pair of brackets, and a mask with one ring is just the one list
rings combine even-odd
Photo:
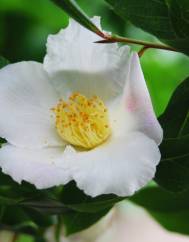
[[(122, 18), (160, 38), (173, 38), (168, 9), (164, 0), (106, 0)], [(169, 30), (169, 31), (167, 31)]]

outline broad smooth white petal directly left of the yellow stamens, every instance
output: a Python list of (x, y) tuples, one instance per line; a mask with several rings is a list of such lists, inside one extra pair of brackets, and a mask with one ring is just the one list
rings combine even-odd
[(63, 145), (50, 111), (57, 100), (41, 64), (4, 67), (0, 70), (0, 137), (19, 147)]

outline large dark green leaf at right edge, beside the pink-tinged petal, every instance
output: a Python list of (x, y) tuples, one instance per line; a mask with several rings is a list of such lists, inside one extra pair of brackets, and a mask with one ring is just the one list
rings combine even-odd
[(174, 92), (159, 118), (164, 130), (156, 182), (174, 192), (189, 189), (189, 78)]

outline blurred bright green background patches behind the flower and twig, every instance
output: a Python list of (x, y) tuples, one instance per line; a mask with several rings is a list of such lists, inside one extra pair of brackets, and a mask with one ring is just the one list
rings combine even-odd
[[(104, 30), (148, 41), (155, 37), (124, 23), (103, 0), (79, 0), (89, 16), (102, 17)], [(49, 34), (68, 24), (68, 16), (50, 0), (0, 0), (0, 55), (14, 63), (42, 61)], [(98, 36), (97, 36), (98, 40)], [(132, 46), (139, 50), (139, 46)], [(160, 115), (176, 86), (189, 76), (189, 58), (180, 53), (148, 50), (141, 63), (157, 115)], [(22, 239), (22, 241), (28, 241)]]

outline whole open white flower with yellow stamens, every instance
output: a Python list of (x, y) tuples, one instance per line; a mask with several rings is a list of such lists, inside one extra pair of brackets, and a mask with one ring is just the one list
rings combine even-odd
[(0, 70), (0, 166), (15, 181), (129, 196), (154, 177), (162, 129), (138, 55), (96, 40), (71, 20), (48, 37), (43, 65)]

